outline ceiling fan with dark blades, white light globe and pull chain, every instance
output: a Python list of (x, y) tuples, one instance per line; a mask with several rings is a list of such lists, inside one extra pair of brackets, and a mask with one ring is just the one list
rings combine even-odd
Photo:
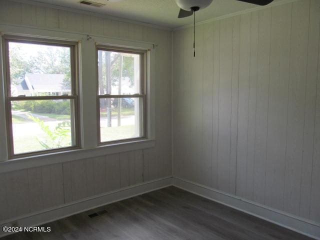
[[(213, 0), (175, 0), (176, 4), (180, 7), (178, 18), (191, 16), (193, 14), (193, 56), (195, 56), (195, 12), (207, 7)], [(264, 6), (273, 0), (237, 0), (244, 1), (260, 6)]]

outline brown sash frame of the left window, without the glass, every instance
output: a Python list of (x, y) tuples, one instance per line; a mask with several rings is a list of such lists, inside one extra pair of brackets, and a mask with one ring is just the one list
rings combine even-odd
[[(9, 64), (9, 42), (21, 43), (34, 43), (51, 46), (65, 46), (70, 48), (70, 75), (71, 75), (71, 95), (60, 96), (11, 96), (11, 81), (10, 81), (10, 64)], [(3, 35), (2, 36), (2, 49), (3, 49), (3, 79), (4, 79), (4, 104), (5, 104), (5, 120), (6, 120), (6, 138), (7, 138), (7, 153), (8, 159), (37, 156), (46, 153), (63, 152), (66, 150), (79, 149), (81, 147), (80, 140), (80, 111), (79, 111), (79, 60), (78, 60), (78, 42), (57, 40), (51, 38), (37, 38), (20, 35)], [(70, 121), (71, 133), (73, 132), (72, 141), (74, 144), (67, 147), (59, 147), (46, 150), (36, 150), (30, 152), (14, 153), (13, 145), (13, 129), (12, 129), (12, 114), (11, 114), (11, 101), (18, 100), (70, 100)], [(72, 103), (73, 102), (73, 103)]]

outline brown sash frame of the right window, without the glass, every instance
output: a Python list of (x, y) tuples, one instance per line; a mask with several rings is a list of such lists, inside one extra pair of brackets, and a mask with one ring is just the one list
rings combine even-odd
[[(98, 76), (98, 51), (114, 51), (114, 52), (123, 52), (123, 53), (132, 53), (132, 54), (139, 54), (140, 55), (140, 93), (136, 94), (99, 94), (99, 76)], [(97, 145), (109, 145), (114, 143), (125, 143), (125, 142), (132, 142), (137, 140), (147, 139), (148, 131), (147, 131), (147, 50), (145, 49), (138, 49), (138, 48), (131, 48), (131, 47), (122, 47), (122, 46), (112, 46), (112, 45), (103, 45), (97, 44), (95, 47), (95, 69), (96, 69), (96, 126), (97, 126)], [(118, 139), (118, 140), (111, 140), (111, 141), (101, 141), (101, 133), (100, 133), (100, 99), (107, 99), (107, 98), (126, 98), (126, 97), (136, 97), (142, 98), (143, 102), (143, 116), (142, 116), (142, 124), (140, 126), (143, 127), (143, 135), (139, 137), (131, 137), (125, 139)]]

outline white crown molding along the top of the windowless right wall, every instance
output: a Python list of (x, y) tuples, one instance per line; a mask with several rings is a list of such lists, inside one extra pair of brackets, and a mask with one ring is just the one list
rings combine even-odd
[[(201, 25), (201, 24), (217, 21), (217, 20), (220, 20), (220, 19), (225, 19), (225, 18), (228, 18), (228, 17), (237, 16), (237, 15), (241, 15), (241, 14), (244, 14), (244, 13), (265, 9), (265, 8), (269, 8), (269, 7), (272, 7), (272, 6), (278, 6), (278, 5), (282, 5), (282, 4), (286, 4), (286, 3), (290, 3), (290, 2), (294, 2), (294, 1), (298, 1), (298, 0), (280, 0), (280, 1), (276, 1), (276, 2), (271, 2), (270, 4), (268, 4), (266, 6), (256, 6), (256, 7), (252, 7), (252, 8), (249, 8), (249, 9), (245, 9), (245, 10), (241, 10), (241, 11), (236, 11), (236, 12), (233, 12), (233, 13), (225, 14), (225, 15), (222, 15), (222, 16), (213, 17), (213, 18), (210, 18), (210, 19), (207, 19), (207, 20), (198, 21), (198, 22), (195, 23), (195, 25)], [(193, 27), (193, 24), (187, 24), (187, 25), (183, 25), (183, 26), (178, 26), (178, 27), (172, 28), (172, 31), (177, 31), (177, 30), (188, 28), (188, 27)]]

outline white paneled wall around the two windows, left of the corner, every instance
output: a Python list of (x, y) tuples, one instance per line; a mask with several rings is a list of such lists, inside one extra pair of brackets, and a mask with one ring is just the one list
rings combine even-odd
[(153, 81), (155, 147), (1, 173), (0, 221), (171, 176), (170, 31), (8, 0), (0, 0), (1, 23), (154, 42), (158, 46)]

